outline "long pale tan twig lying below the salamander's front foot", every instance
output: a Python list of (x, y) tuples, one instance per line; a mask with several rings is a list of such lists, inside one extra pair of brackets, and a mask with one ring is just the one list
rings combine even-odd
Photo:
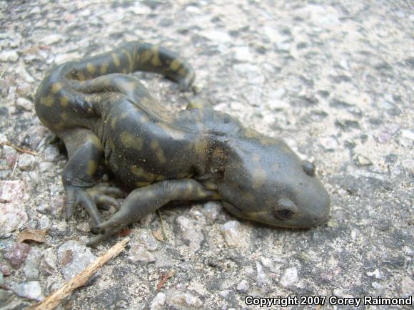
[(72, 292), (80, 286), (83, 286), (86, 281), (94, 274), (100, 267), (102, 267), (108, 260), (113, 259), (113, 257), (118, 256), (129, 242), (129, 238), (123, 239), (121, 242), (115, 244), (111, 249), (108, 249), (104, 255), (98, 257), (95, 262), (89, 264), (88, 267), (84, 269), (83, 272), (76, 274), (76, 276), (70, 281), (66, 282), (64, 286), (47, 296), (44, 301), (41, 301), (39, 304), (31, 306), (31, 310), (48, 310), (55, 309), (59, 303), (64, 300), (67, 296), (72, 294)]

